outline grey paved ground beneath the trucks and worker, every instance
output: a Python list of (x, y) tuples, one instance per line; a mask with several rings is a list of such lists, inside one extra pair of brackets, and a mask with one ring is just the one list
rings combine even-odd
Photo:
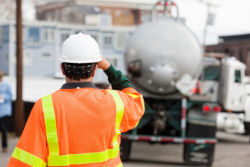
[[(216, 146), (213, 167), (249, 167), (249, 137), (217, 133), (219, 143)], [(18, 138), (10, 138), (9, 153), (0, 152), (0, 167), (6, 167)], [(124, 167), (184, 167), (182, 144), (150, 145), (134, 142), (131, 160)], [(187, 166), (186, 166), (187, 167)]]

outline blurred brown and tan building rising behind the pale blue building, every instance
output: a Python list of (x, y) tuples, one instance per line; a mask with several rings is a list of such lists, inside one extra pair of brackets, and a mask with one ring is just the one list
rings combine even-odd
[(102, 26), (111, 21), (114, 26), (132, 26), (149, 21), (151, 8), (147, 1), (49, 1), (36, 5), (36, 19)]

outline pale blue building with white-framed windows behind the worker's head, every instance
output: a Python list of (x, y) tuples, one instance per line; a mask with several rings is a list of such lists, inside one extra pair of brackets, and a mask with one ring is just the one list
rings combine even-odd
[[(58, 56), (62, 43), (72, 34), (79, 32), (91, 35), (99, 44), (101, 53), (118, 69), (125, 72), (123, 50), (134, 27), (102, 27), (57, 22), (23, 23), (23, 65), (25, 76), (61, 77)], [(10, 76), (16, 68), (15, 22), (0, 25), (1, 69)], [(105, 75), (97, 72), (95, 81), (104, 81)]]

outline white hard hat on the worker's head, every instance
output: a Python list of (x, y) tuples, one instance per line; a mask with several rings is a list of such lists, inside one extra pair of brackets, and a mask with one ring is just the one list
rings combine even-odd
[(97, 42), (82, 33), (71, 35), (62, 45), (59, 61), (64, 63), (95, 63), (101, 61)]

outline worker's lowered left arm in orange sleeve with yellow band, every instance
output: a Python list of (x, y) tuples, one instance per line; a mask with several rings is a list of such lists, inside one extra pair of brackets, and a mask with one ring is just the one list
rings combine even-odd
[(41, 100), (34, 105), (7, 167), (47, 166), (46, 133)]

